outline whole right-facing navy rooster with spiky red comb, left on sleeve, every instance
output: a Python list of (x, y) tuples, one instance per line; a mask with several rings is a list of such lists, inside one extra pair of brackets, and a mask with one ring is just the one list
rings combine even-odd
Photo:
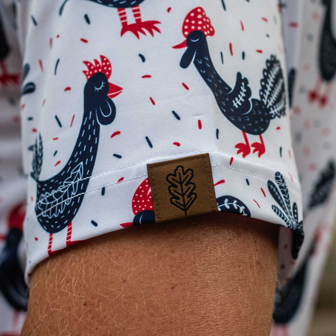
[(43, 146), (42, 138), (34, 145), (33, 171), (37, 182), (35, 213), (41, 226), (49, 233), (48, 254), (51, 251), (52, 235), (68, 226), (67, 246), (71, 241), (72, 220), (83, 201), (98, 150), (100, 125), (109, 125), (116, 116), (116, 107), (111, 98), (122, 88), (109, 83), (112, 73), (110, 61), (100, 56), (101, 64), (84, 61), (88, 71), (83, 71), (88, 81), (84, 87), (84, 115), (75, 148), (64, 168), (48, 180), (40, 181)]

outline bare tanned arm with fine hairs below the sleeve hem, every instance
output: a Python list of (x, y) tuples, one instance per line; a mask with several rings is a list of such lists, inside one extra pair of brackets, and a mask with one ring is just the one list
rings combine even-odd
[(212, 213), (78, 243), (36, 267), (22, 336), (269, 336), (277, 240)]

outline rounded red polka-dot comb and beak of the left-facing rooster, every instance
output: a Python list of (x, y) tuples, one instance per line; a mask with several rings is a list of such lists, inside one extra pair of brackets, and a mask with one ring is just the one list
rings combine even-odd
[[(191, 10), (183, 21), (182, 34), (184, 37), (187, 37), (188, 34), (194, 30), (202, 31), (205, 36), (213, 36), (215, 34), (215, 30), (211, 25), (211, 21), (206, 16), (202, 7), (196, 7)], [(186, 46), (186, 40), (184, 40), (182, 43), (173, 46), (173, 48), (185, 48)]]

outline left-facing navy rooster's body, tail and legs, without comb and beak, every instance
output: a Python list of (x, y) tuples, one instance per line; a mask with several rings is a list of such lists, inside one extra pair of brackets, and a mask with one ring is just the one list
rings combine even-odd
[[(260, 81), (260, 100), (250, 99), (249, 82), (240, 72), (237, 73), (233, 89), (219, 76), (212, 64), (204, 32), (189, 33), (186, 44), (187, 50), (181, 58), (180, 66), (187, 68), (194, 60), (196, 69), (214, 94), (220, 111), (243, 132), (245, 143), (235, 146), (237, 154), (242, 153), (245, 158), (251, 152), (250, 147), (254, 147), (253, 153), (258, 152), (260, 157), (265, 153), (261, 134), (268, 128), (270, 120), (284, 116), (286, 111), (285, 85), (279, 60), (271, 55), (266, 61)], [(246, 133), (259, 135), (260, 143), (254, 142), (250, 146)]]

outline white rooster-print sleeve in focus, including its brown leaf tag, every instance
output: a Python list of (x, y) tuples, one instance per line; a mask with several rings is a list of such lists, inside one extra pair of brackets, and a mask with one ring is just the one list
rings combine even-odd
[(21, 99), (27, 281), (77, 241), (214, 211), (291, 229), (296, 258), (276, 1), (32, 0), (18, 12), (23, 85), (36, 86)]

